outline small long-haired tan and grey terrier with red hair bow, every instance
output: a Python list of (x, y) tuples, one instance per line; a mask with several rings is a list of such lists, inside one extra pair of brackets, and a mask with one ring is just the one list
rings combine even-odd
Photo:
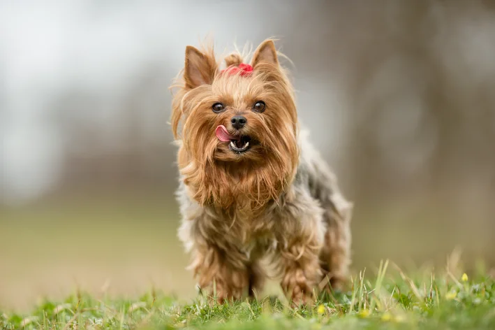
[(188, 46), (175, 85), (179, 238), (199, 287), (219, 301), (252, 296), (272, 275), (289, 299), (308, 303), (346, 278), (352, 204), (298, 127), (274, 42), (261, 43), (251, 65), (238, 53), (225, 62), (221, 70), (212, 48)]

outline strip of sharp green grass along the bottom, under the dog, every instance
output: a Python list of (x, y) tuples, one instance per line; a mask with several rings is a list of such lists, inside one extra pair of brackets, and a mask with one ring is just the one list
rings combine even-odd
[[(372, 273), (373, 275), (368, 275)], [(495, 281), (482, 266), (470, 277), (457, 267), (406, 275), (383, 262), (361, 271), (348, 291), (321, 294), (313, 307), (283, 297), (209, 304), (180, 303), (154, 292), (112, 299), (77, 292), (44, 301), (31, 313), (0, 310), (0, 329), (495, 329)]]

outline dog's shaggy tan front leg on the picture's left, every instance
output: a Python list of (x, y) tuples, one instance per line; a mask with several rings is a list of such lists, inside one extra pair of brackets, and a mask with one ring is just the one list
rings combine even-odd
[(235, 247), (204, 245), (195, 251), (193, 268), (200, 289), (219, 303), (239, 300), (249, 287), (246, 257)]

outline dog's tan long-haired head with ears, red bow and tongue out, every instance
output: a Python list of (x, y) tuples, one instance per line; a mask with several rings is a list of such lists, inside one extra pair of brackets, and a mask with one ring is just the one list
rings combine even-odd
[(274, 43), (262, 43), (251, 66), (241, 62), (230, 55), (228, 69), (220, 71), (212, 53), (186, 48), (172, 127), (177, 136), (182, 121), (179, 167), (186, 183), (189, 174), (189, 183), (205, 195), (202, 202), (239, 192), (258, 202), (276, 198), (295, 173), (297, 113)]

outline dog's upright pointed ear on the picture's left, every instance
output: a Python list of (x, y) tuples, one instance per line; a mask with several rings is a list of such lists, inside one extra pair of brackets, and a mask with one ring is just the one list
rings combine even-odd
[(216, 73), (215, 59), (203, 54), (193, 46), (186, 47), (186, 65), (184, 80), (186, 87), (195, 88), (200, 85), (211, 85)]

